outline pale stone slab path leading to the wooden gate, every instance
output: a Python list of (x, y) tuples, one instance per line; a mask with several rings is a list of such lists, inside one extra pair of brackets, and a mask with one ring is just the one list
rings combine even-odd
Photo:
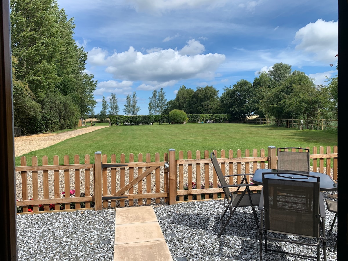
[(117, 208), (113, 261), (173, 261), (152, 206)]

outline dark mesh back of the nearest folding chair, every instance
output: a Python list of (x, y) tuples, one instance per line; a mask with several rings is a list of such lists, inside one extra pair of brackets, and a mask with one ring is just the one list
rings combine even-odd
[(296, 174), (316, 180), (309, 182), (272, 179), (274, 175), (262, 175), (266, 231), (319, 237), (319, 177)]

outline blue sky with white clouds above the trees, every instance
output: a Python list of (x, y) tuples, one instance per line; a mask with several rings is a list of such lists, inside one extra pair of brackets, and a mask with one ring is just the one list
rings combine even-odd
[[(337, 0), (57, 0), (74, 18), (74, 39), (88, 53), (86, 72), (103, 96), (116, 94), (124, 114), (136, 92), (139, 115), (163, 88), (214, 86), (219, 96), (237, 81), (253, 82), (275, 63), (327, 84), (338, 53)], [(333, 64), (333, 66), (330, 66)]]

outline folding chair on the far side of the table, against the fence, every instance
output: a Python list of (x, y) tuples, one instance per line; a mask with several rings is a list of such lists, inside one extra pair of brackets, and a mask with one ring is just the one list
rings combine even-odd
[[(290, 149), (290, 151), (289, 151)], [(310, 171), (309, 149), (278, 148), (278, 169), (287, 171)]]

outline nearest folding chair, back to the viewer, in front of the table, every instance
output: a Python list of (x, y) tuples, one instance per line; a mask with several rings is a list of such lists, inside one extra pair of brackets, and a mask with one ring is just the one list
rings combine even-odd
[[(262, 174), (260, 260), (264, 234), (265, 253), (273, 251), (320, 260), (322, 243), (326, 261), (325, 207), (323, 194), (319, 191), (319, 180), (317, 176), (286, 171)], [(314, 246), (317, 256), (269, 248), (268, 240)], [(303, 251), (306, 248), (299, 249)]]

